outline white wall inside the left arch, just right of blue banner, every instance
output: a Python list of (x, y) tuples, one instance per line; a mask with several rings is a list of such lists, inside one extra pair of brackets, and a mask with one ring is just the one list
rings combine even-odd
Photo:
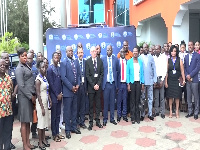
[(167, 42), (167, 28), (161, 17), (155, 17), (143, 22), (141, 34), (137, 34), (137, 43), (142, 41), (161, 46)]

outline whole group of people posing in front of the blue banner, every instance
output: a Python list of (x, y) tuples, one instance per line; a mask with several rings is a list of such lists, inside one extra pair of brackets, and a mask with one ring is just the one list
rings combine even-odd
[[(195, 47), (194, 47), (195, 46)], [(51, 111), (51, 131), (53, 140), (60, 142), (65, 136), (59, 133), (59, 124), (64, 122), (66, 138), (71, 133), (81, 134), (80, 128), (103, 128), (108, 123), (117, 125), (123, 119), (128, 122), (130, 114), (132, 124), (140, 123), (146, 115), (144, 101), (148, 103), (148, 118), (161, 114), (165, 118), (165, 101), (169, 102), (169, 117), (173, 117), (173, 101), (176, 106), (176, 118), (179, 118), (179, 101), (184, 91), (188, 104), (186, 118), (199, 113), (199, 43), (190, 41), (188, 52), (186, 44), (170, 45), (165, 43), (152, 46), (144, 43), (129, 50), (128, 41), (117, 56), (108, 45), (106, 56), (100, 57), (99, 45), (90, 48), (91, 57), (83, 58), (81, 43), (77, 44), (78, 59), (74, 59), (74, 50), (66, 47), (66, 58), (61, 61), (61, 51), (52, 54), (52, 60), (36, 56), (34, 51), (28, 53), (24, 48), (17, 51), (19, 64), (15, 71), (9, 68), (9, 54), (3, 52), (0, 59), (0, 149), (11, 149), (13, 128), (13, 105), (18, 99), (18, 119), (21, 122), (21, 136), (25, 150), (39, 146), (45, 150), (49, 147), (49, 137), (45, 129), (49, 126)], [(16, 80), (14, 79), (16, 77)], [(186, 88), (185, 88), (186, 84)], [(193, 108), (192, 96), (195, 107)], [(117, 99), (117, 120), (115, 120), (115, 100)], [(154, 105), (153, 105), (154, 103)], [(154, 106), (154, 112), (153, 112)], [(50, 109), (50, 110), (49, 110)], [(36, 110), (37, 121), (34, 110)], [(103, 123), (100, 121), (100, 112)], [(108, 117), (110, 111), (110, 117)], [(86, 126), (85, 115), (89, 113), (89, 125)], [(60, 117), (63, 115), (63, 119)], [(30, 144), (30, 131), (35, 136), (38, 129), (38, 146)], [(34, 134), (33, 134), (34, 133)]]

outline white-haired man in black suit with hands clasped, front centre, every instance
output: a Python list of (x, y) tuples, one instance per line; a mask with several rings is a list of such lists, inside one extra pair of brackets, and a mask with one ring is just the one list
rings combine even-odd
[(86, 66), (86, 78), (88, 82), (88, 96), (89, 96), (89, 127), (88, 130), (92, 130), (93, 127), (93, 115), (94, 115), (94, 109), (93, 105), (94, 102), (96, 102), (96, 126), (99, 128), (103, 128), (103, 126), (100, 123), (100, 110), (101, 110), (101, 83), (103, 79), (103, 63), (100, 58), (97, 57), (97, 52), (94, 46), (90, 49), (91, 57), (86, 60), (85, 66)]

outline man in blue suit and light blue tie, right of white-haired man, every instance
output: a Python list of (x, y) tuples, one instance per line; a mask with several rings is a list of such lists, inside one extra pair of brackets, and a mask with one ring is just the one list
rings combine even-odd
[(104, 95), (104, 118), (103, 126), (106, 126), (108, 120), (108, 106), (110, 104), (110, 122), (114, 125), (117, 123), (114, 120), (114, 108), (115, 108), (115, 94), (117, 89), (117, 71), (118, 60), (112, 55), (112, 46), (107, 46), (107, 56), (102, 58), (104, 76), (103, 76), (103, 95)]

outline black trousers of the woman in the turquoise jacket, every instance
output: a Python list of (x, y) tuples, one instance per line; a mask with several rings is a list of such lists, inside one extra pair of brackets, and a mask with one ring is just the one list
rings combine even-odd
[(135, 81), (133, 84), (130, 83), (130, 114), (131, 121), (139, 121), (140, 120), (140, 111), (139, 111), (139, 103), (141, 96), (141, 87), (139, 81)]

